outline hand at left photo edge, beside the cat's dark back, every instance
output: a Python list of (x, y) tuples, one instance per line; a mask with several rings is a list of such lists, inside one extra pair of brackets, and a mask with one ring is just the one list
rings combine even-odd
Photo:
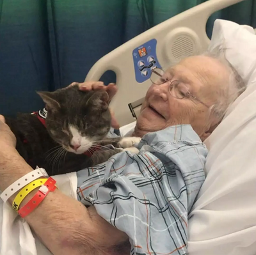
[(0, 150), (3, 146), (16, 147), (16, 137), (10, 127), (5, 124), (4, 116), (0, 115)]

